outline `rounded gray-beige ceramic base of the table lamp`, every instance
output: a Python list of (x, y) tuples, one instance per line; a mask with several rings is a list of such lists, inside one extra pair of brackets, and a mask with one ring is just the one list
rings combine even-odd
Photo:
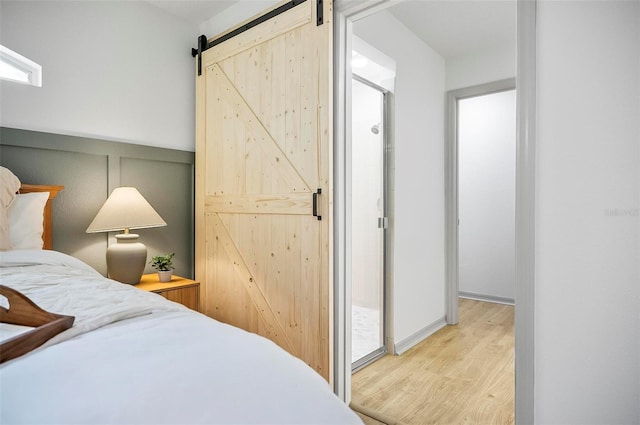
[(140, 282), (147, 263), (147, 247), (138, 242), (138, 235), (121, 233), (116, 243), (107, 248), (107, 272), (109, 278), (135, 285)]

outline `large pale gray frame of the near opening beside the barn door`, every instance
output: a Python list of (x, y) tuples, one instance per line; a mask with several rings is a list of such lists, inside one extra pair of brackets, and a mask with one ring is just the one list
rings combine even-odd
[[(354, 4), (355, 3), (355, 4)], [(334, 390), (351, 400), (349, 304), (346, 279), (345, 223), (346, 141), (350, 132), (351, 34), (353, 21), (383, 10), (397, 0), (334, 3)], [(536, 153), (536, 0), (517, 0), (516, 100), (516, 303), (515, 419), (534, 422), (534, 307), (535, 307), (535, 153)], [(443, 105), (444, 107), (444, 105)], [(443, 158), (444, 160), (444, 158)], [(444, 224), (444, 223), (443, 223)], [(444, 248), (444, 247), (443, 247)], [(445, 255), (446, 252), (445, 252)], [(446, 284), (443, 282), (443, 284)], [(348, 314), (347, 314), (348, 313)]]

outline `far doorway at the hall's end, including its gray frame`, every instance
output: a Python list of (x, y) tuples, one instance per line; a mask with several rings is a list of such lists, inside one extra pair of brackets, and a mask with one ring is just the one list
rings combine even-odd
[(447, 323), (458, 297), (515, 303), (516, 81), (447, 93)]

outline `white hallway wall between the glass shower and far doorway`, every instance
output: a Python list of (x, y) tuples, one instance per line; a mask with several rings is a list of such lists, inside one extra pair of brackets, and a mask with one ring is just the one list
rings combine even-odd
[(353, 28), (396, 61), (390, 226), (398, 344), (444, 317), (444, 59), (386, 11)]

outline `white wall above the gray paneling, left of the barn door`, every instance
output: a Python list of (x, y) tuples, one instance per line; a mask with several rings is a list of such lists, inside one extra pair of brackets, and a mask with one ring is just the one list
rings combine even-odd
[(0, 125), (195, 149), (197, 28), (141, 1), (2, 1), (0, 42), (43, 67), (2, 81)]

